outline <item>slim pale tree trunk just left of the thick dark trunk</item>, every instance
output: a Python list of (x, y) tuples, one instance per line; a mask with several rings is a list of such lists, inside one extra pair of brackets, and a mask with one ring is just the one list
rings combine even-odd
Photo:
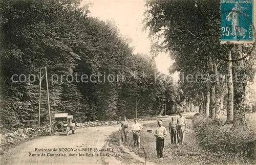
[(229, 62), (227, 66), (227, 120), (226, 123), (233, 123), (233, 78), (231, 51), (229, 52)]

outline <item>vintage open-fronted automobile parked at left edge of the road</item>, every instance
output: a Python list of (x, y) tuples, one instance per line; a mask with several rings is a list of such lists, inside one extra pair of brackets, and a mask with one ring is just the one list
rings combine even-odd
[(55, 122), (49, 130), (50, 135), (65, 132), (68, 136), (70, 131), (72, 131), (73, 134), (76, 133), (75, 123), (72, 123), (73, 115), (69, 115), (68, 113), (55, 113), (54, 119)]

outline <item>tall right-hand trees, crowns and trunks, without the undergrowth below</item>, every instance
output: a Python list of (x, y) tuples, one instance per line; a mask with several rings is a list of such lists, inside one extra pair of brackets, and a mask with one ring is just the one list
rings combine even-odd
[(256, 72), (255, 43), (220, 44), (220, 1), (150, 0), (146, 7), (145, 29), (157, 38), (152, 53), (168, 51), (175, 60), (170, 72), (180, 73), (181, 100), (215, 118), (227, 95), (227, 121), (245, 125), (245, 89)]

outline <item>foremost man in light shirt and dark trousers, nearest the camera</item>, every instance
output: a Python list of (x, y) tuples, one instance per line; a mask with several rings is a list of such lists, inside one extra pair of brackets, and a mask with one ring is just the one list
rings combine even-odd
[(157, 120), (158, 127), (156, 128), (156, 149), (157, 158), (163, 159), (163, 148), (164, 148), (164, 137), (167, 136), (167, 131), (164, 126), (162, 126), (163, 121), (161, 119)]

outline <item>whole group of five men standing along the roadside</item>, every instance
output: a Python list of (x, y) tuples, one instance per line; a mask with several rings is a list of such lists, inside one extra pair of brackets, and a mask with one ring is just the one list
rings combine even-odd
[[(182, 113), (179, 113), (178, 119), (176, 117), (172, 117), (172, 121), (169, 123), (169, 133), (171, 144), (180, 144), (183, 145), (184, 135), (187, 128), (187, 122)], [(163, 159), (163, 149), (164, 149), (164, 137), (167, 136), (167, 130), (164, 126), (162, 126), (163, 121), (161, 119), (157, 120), (158, 127), (155, 130), (156, 137), (156, 150), (157, 157)], [(133, 141), (134, 146), (140, 147), (140, 132), (143, 129), (142, 125), (138, 123), (138, 119), (134, 119), (134, 124), (131, 126), (133, 132)], [(127, 122), (126, 117), (123, 117), (123, 121), (121, 122), (121, 127), (119, 129), (121, 131), (121, 140), (122, 143), (127, 142), (127, 133), (129, 132), (129, 122)], [(178, 143), (177, 143), (178, 139)]]

